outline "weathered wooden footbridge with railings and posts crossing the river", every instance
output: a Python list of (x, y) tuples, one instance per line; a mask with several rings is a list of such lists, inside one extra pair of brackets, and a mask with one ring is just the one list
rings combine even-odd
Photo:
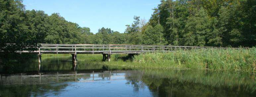
[[(199, 46), (170, 46), (170, 45), (116, 45), (116, 44), (39, 44), (36, 51), (22, 51), (22, 53), (38, 53), (39, 63), (41, 54), (72, 54), (72, 60), (77, 63), (77, 54), (102, 54), (102, 60), (110, 61), (111, 54), (140, 54), (145, 52), (170, 52), (183, 49), (227, 49), (223, 47), (199, 47)], [(239, 49), (239, 48), (232, 48)], [(247, 48), (248, 49), (248, 48)], [(21, 53), (21, 52), (20, 52)]]

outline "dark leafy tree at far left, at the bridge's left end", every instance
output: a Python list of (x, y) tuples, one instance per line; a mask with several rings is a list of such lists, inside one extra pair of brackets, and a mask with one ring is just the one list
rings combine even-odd
[(21, 0), (0, 0), (0, 51), (35, 50), (40, 34), (26, 20)]

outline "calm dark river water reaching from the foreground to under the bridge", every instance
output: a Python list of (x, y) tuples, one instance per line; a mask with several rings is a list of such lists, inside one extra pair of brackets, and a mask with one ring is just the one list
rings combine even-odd
[[(2, 70), (0, 96), (255, 97), (255, 74), (207, 70), (123, 70), (70, 58), (13, 63)], [(10, 74), (11, 73), (11, 74)]]

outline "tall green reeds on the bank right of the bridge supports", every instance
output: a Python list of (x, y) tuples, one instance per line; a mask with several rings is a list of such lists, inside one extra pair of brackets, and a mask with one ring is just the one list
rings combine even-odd
[(122, 61), (124, 55), (113, 55), (104, 64), (128, 68), (149, 69), (210, 69), (232, 71), (255, 71), (256, 49), (194, 49), (168, 53), (135, 55), (132, 61)]

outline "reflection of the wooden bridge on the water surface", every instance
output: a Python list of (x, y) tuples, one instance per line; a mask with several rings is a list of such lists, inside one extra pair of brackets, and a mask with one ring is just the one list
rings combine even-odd
[[(129, 74), (127, 74), (129, 73)], [(0, 82), (4, 85), (24, 85), (24, 84), (41, 84), (48, 82), (91, 82), (97, 80), (120, 80), (126, 79), (127, 75), (131, 75), (133, 73), (139, 73), (135, 71), (86, 71), (85, 73), (77, 73), (77, 72), (45, 72), (45, 73), (20, 73), (20, 74), (12, 74), (12, 75), (4, 75), (0, 74)], [(137, 75), (137, 74), (136, 74)], [(38, 80), (39, 78), (39, 80)]]

